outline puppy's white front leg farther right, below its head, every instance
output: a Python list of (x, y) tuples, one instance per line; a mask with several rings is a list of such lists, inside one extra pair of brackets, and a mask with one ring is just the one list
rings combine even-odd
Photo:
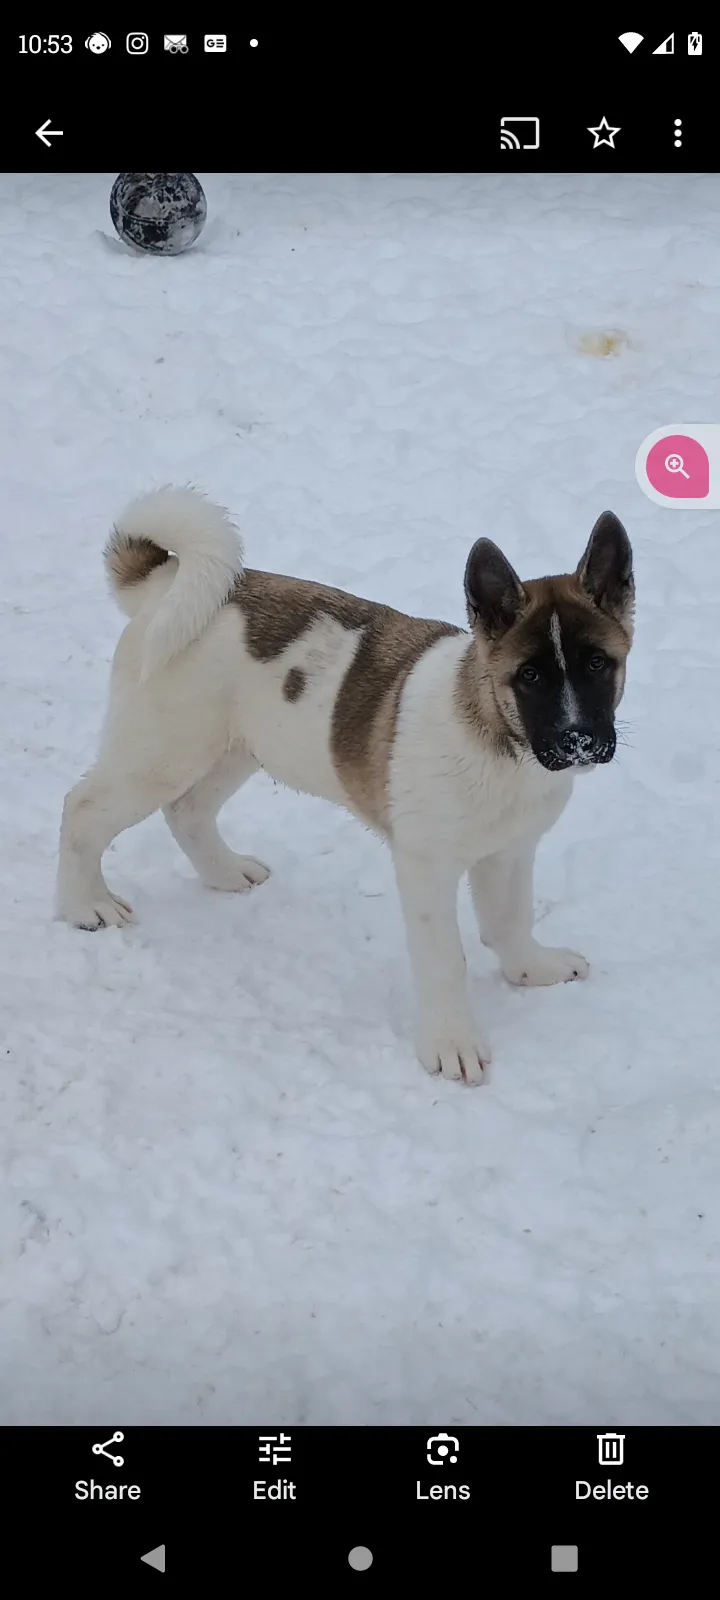
[(533, 864), (536, 840), (485, 856), (470, 869), (470, 894), (483, 944), (496, 950), (510, 984), (566, 984), (587, 978), (578, 950), (554, 949), (533, 938)]

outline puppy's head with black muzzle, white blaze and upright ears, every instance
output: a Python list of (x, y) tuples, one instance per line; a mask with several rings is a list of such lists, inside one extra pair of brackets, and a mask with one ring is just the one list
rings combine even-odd
[(611, 762), (635, 602), (618, 517), (598, 517), (578, 570), (560, 578), (522, 582), (498, 546), (478, 539), (466, 600), (504, 738), (549, 771)]

